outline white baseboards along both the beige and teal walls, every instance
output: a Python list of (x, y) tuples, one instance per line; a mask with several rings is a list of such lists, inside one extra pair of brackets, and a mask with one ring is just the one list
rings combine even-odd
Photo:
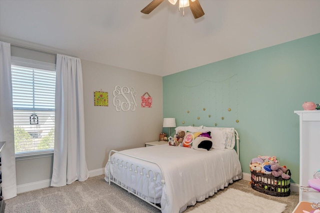
[[(89, 171), (89, 177), (104, 174), (104, 167), (93, 169)], [(251, 174), (242, 172), (242, 179), (251, 181)], [(17, 193), (22, 193), (26, 191), (32, 191), (40, 188), (50, 187), (51, 179), (30, 182), (25, 184), (20, 184), (16, 186)], [(290, 189), (294, 192), (299, 192), (299, 185), (296, 183), (290, 183)]]

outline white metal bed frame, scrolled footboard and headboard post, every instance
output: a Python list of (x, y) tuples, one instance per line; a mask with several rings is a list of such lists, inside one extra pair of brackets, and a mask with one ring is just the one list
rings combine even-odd
[[(234, 129), (234, 135), (235, 135), (235, 139), (236, 139), (236, 153), (239, 157), (239, 134), (238, 132)], [(154, 172), (153, 170), (148, 170), (147, 168), (144, 168), (144, 167), (141, 167), (141, 166), (136, 166), (134, 165), (133, 163), (130, 163), (130, 162), (127, 162), (127, 161), (123, 161), (123, 160), (120, 160), (120, 159), (114, 159), (111, 158), (111, 155), (112, 153), (118, 153), (120, 155), (125, 155), (125, 156), (129, 156), (129, 157), (133, 157), (135, 159), (140, 159), (140, 160), (143, 160), (143, 161), (146, 161), (146, 162), (149, 162), (149, 163), (152, 163), (154, 165), (156, 165), (158, 168), (159, 168), (159, 171), (160, 172)], [(122, 153), (122, 152), (119, 152), (119, 151), (116, 151), (116, 150), (110, 150), (109, 151), (109, 158), (108, 158), (108, 163), (110, 164), (115, 164), (116, 167), (114, 168), (113, 167), (113, 171), (115, 170), (116, 171), (116, 174), (113, 173), (112, 175), (112, 178), (110, 178), (111, 176), (111, 166), (109, 165), (108, 166), (108, 183), (111, 184), (111, 182), (115, 183), (116, 185), (120, 186), (121, 188), (127, 190), (129, 193), (131, 194), (134, 194), (135, 196), (139, 197), (140, 199), (144, 200), (145, 202), (149, 203), (150, 205), (156, 207), (157, 209), (161, 210), (161, 207), (159, 205), (157, 205), (156, 201), (155, 201), (155, 181), (156, 181), (156, 178), (159, 176), (161, 178), (161, 184), (163, 186), (163, 184), (165, 183), (165, 180), (164, 180), (164, 175), (163, 175), (163, 170), (161, 168), (161, 166), (156, 163), (156, 162), (153, 162), (153, 161), (150, 161), (150, 160), (147, 160), (147, 159), (143, 159), (143, 158), (140, 158), (140, 157), (136, 157), (136, 156), (132, 156), (132, 155), (129, 155), (129, 154), (125, 154), (125, 153)], [(125, 182), (121, 182), (120, 180), (123, 180), (122, 178), (122, 172), (118, 172), (118, 168), (119, 167), (124, 167), (125, 169)], [(135, 182), (133, 185), (132, 185), (132, 176), (130, 175), (130, 182), (129, 184), (127, 183), (127, 169), (130, 171), (133, 170), (134, 173), (135, 173), (135, 180), (138, 179), (138, 175), (140, 175), (140, 179), (141, 179), (141, 186), (140, 188), (137, 188), (138, 184), (137, 182)], [(122, 170), (121, 170), (122, 171)], [(152, 176), (153, 178), (150, 179), (150, 173), (152, 173)], [(147, 188), (147, 194), (143, 194), (143, 178), (142, 176), (145, 175), (146, 178), (147, 178), (147, 185), (144, 185), (144, 187)], [(120, 177), (118, 179), (115, 179), (115, 176), (116, 177)], [(153, 181), (153, 185), (154, 185), (154, 194), (153, 194), (153, 202), (152, 201), (149, 201), (150, 199), (150, 194), (149, 194), (149, 184), (151, 183), (151, 181)], [(139, 192), (140, 191), (140, 192)], [(143, 195), (146, 197), (146, 198), (143, 198)]]

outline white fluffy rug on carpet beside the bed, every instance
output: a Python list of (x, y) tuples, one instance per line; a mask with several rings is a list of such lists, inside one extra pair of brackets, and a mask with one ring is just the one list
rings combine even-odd
[(286, 204), (255, 196), (237, 189), (229, 188), (212, 200), (199, 205), (191, 213), (204, 212), (245, 212), (245, 213), (281, 213)]

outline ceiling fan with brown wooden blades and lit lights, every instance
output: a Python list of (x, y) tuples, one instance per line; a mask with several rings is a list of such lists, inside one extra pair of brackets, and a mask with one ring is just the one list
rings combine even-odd
[[(148, 5), (146, 5), (141, 12), (149, 14), (155, 7), (157, 7), (164, 0), (152, 0)], [(170, 3), (175, 4), (177, 0), (168, 0)], [(179, 9), (180, 7), (189, 6), (194, 18), (201, 17), (204, 15), (203, 9), (199, 3), (199, 0), (179, 0)], [(179, 10), (180, 11), (180, 10)], [(184, 10), (183, 10), (184, 11)], [(184, 13), (183, 13), (184, 15)]]

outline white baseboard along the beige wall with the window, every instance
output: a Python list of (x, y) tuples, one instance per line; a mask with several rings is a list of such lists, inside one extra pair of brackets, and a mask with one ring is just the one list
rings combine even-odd
[[(101, 174), (104, 174), (104, 167), (89, 171), (89, 177), (93, 177)], [(40, 188), (50, 187), (50, 183), (51, 183), (51, 179), (45, 179), (45, 180), (40, 180), (36, 182), (20, 184), (16, 186), (16, 192), (22, 193), (26, 191), (32, 191)]]

